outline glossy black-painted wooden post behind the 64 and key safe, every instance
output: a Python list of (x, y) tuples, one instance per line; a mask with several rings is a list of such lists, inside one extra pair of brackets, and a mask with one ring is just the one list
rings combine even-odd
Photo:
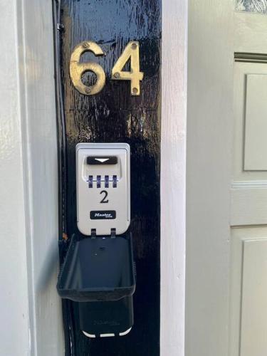
[[(159, 355), (159, 158), (160, 158), (160, 0), (63, 0), (61, 75), (67, 144), (68, 236), (78, 234), (75, 197), (75, 145), (127, 142), (131, 147), (131, 225), (137, 262), (135, 325), (129, 335), (90, 340), (80, 332), (78, 305), (67, 302), (64, 323), (67, 355)], [(82, 61), (103, 66), (106, 84), (98, 95), (78, 93), (68, 73), (70, 53), (82, 41), (95, 41), (105, 56), (85, 53)], [(141, 95), (130, 82), (110, 80), (112, 66), (129, 41), (140, 43)], [(93, 78), (85, 76), (85, 83)], [(61, 252), (61, 254), (63, 251)], [(62, 256), (61, 256), (62, 257)], [(66, 348), (68, 350), (68, 347)]]

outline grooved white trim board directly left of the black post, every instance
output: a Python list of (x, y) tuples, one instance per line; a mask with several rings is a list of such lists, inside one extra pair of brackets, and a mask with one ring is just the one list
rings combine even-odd
[(16, 6), (30, 333), (27, 355), (61, 356), (52, 3), (17, 0)]

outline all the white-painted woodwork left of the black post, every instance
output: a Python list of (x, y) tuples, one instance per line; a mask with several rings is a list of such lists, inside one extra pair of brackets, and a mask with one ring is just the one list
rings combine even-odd
[(0, 355), (63, 355), (50, 0), (0, 3)]

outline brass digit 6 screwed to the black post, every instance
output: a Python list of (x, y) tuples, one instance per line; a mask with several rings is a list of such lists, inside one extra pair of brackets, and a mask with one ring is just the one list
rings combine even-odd
[[(92, 52), (95, 56), (104, 55), (100, 46), (95, 42), (84, 41), (78, 44), (70, 56), (70, 79), (81, 94), (94, 95), (99, 93), (105, 85), (105, 72), (98, 63), (80, 63), (80, 56), (85, 52)], [(95, 73), (97, 78), (96, 83), (91, 86), (84, 85), (82, 82), (83, 74), (88, 71)]]

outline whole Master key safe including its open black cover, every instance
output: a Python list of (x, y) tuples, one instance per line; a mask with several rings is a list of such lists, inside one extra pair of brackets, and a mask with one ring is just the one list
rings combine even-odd
[(130, 146), (76, 146), (77, 226), (58, 293), (78, 303), (88, 337), (126, 335), (133, 325), (135, 263), (130, 226)]

